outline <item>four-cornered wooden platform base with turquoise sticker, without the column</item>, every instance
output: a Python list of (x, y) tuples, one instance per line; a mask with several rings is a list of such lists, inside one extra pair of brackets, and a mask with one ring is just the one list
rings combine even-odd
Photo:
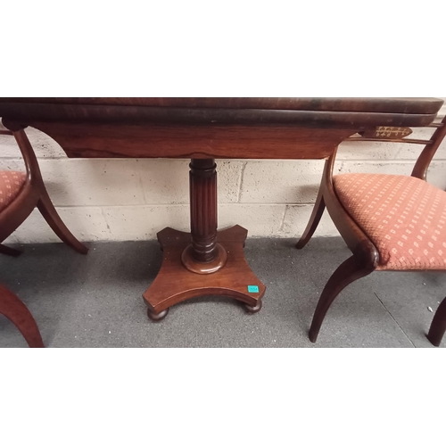
[(157, 236), (163, 252), (161, 269), (143, 294), (151, 319), (156, 319), (156, 315), (163, 318), (165, 315), (161, 313), (180, 301), (214, 294), (244, 302), (249, 312), (260, 310), (266, 287), (244, 258), (247, 235), (248, 231), (238, 225), (220, 231), (217, 242), (226, 250), (227, 262), (217, 272), (203, 275), (189, 271), (181, 261), (181, 254), (191, 241), (189, 233), (171, 227), (159, 232)]

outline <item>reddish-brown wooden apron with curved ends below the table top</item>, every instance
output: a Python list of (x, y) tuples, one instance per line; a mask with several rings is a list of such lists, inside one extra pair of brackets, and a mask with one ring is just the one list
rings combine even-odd
[(69, 158), (323, 159), (359, 128), (29, 122)]

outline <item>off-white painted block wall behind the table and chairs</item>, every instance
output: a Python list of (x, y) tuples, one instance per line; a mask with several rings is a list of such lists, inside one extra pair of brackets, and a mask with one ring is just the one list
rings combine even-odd
[[(441, 113), (444, 115), (444, 112)], [(49, 136), (26, 130), (54, 205), (82, 241), (147, 240), (163, 227), (189, 229), (187, 160), (69, 160)], [(426, 138), (432, 129), (417, 129)], [(410, 137), (412, 137), (410, 136)], [(343, 143), (336, 172), (410, 174), (421, 145)], [(304, 230), (324, 161), (218, 160), (219, 228), (246, 227), (252, 237), (298, 238)], [(0, 170), (23, 169), (12, 136), (0, 136)], [(428, 181), (446, 189), (446, 141)], [(325, 212), (315, 236), (338, 235)], [(38, 211), (5, 243), (59, 242)]]

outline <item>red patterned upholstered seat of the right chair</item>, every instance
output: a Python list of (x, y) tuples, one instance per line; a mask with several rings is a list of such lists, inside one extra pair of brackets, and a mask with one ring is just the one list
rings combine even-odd
[(335, 193), (376, 246), (376, 270), (446, 269), (446, 192), (404, 175), (352, 173)]

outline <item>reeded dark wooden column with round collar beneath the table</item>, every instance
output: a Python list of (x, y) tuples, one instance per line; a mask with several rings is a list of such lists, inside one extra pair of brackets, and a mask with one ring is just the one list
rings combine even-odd
[(227, 261), (227, 252), (217, 243), (217, 166), (213, 159), (192, 159), (189, 166), (191, 244), (181, 260), (194, 273), (211, 274)]

